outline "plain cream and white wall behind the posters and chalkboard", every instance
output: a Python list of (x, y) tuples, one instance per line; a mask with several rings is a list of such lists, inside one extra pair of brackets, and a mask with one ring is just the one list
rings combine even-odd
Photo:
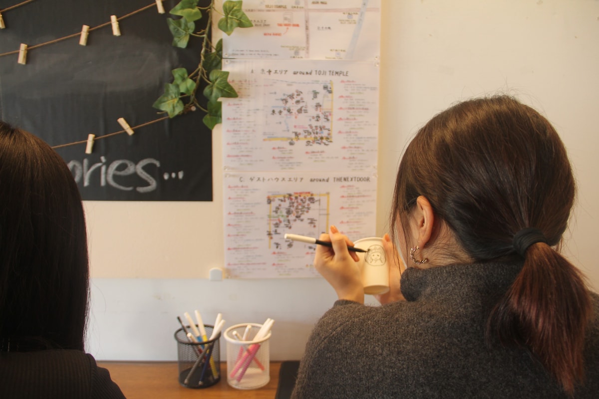
[[(510, 93), (543, 112), (568, 148), (579, 196), (567, 253), (599, 290), (598, 44), (597, 0), (383, 0), (377, 233), (388, 231), (409, 137), (457, 100)], [(87, 349), (98, 359), (175, 360), (176, 316), (193, 309), (207, 323), (222, 312), (229, 326), (274, 318), (271, 358), (297, 359), (334, 301), (322, 279), (206, 279), (223, 263), (220, 132), (213, 137), (213, 202), (86, 203)]]

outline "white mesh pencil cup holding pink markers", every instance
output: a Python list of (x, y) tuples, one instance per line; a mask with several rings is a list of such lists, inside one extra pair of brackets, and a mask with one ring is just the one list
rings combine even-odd
[[(248, 325), (251, 328), (246, 334)], [(271, 333), (263, 339), (254, 340), (261, 327), (262, 324), (245, 323), (232, 325), (225, 331), (226, 377), (233, 388), (256, 389), (270, 381)], [(244, 334), (246, 339), (238, 340), (238, 337), (243, 338)]]

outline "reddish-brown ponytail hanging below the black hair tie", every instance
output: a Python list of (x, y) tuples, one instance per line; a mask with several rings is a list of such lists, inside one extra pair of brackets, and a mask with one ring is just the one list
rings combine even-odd
[(584, 376), (585, 328), (591, 301), (579, 270), (545, 243), (528, 248), (512, 287), (489, 316), (487, 334), (530, 348), (573, 394)]

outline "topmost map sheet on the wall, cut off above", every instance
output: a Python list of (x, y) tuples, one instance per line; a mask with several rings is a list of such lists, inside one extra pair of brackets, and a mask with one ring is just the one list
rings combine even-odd
[(380, 0), (244, 0), (253, 27), (223, 35), (223, 57), (378, 60)]

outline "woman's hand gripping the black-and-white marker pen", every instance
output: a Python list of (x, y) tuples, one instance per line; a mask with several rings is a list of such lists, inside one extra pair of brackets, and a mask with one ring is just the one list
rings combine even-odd
[(353, 242), (331, 226), (329, 234), (320, 234), (322, 241), (330, 241), (332, 248), (324, 245), (316, 246), (314, 267), (326, 281), (331, 284), (339, 299), (347, 299), (364, 303), (364, 285), (358, 267), (358, 255), (350, 252), (348, 245)]

